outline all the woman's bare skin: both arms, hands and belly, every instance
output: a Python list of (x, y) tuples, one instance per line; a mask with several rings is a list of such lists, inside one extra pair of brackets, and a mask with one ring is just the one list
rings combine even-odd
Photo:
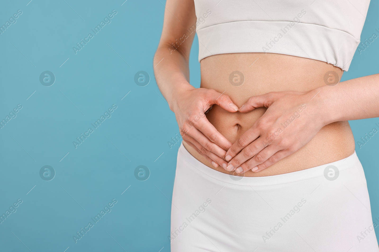
[[(282, 54), (207, 57), (200, 62), (200, 88), (194, 88), (188, 66), (194, 32), (188, 31), (195, 23), (193, 1), (166, 2), (154, 71), (183, 144), (205, 165), (234, 175), (269, 176), (327, 164), (354, 152), (346, 120), (379, 116), (377, 74), (330, 86), (324, 76), (334, 71), (332, 77), (340, 79), (340, 68)], [(188, 38), (175, 49), (172, 43), (183, 34)], [(229, 82), (235, 70), (245, 77), (238, 87)], [(295, 119), (284, 128), (291, 116)]]

